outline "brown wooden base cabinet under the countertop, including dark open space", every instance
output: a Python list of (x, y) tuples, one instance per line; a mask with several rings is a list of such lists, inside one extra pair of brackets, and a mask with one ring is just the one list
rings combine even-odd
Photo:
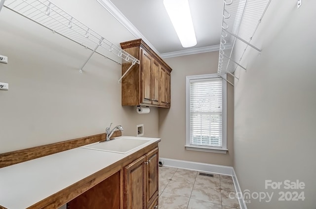
[(140, 151), (70, 201), (67, 209), (158, 209), (158, 143)]

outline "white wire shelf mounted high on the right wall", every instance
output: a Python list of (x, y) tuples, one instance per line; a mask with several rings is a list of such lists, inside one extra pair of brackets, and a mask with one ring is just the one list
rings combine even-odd
[[(250, 42), (261, 23), (270, 1), (224, 0), (217, 70), (218, 77), (222, 77), (222, 74), (230, 74), (239, 80), (234, 72), (237, 67), (246, 71), (246, 68), (240, 64), (246, 49), (252, 47), (261, 54), (261, 49), (255, 47)], [(237, 47), (244, 50), (234, 50)], [(229, 83), (233, 85), (231, 82)]]

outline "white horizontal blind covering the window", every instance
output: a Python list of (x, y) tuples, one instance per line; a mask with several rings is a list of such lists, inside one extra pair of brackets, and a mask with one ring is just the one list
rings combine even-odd
[(190, 80), (190, 144), (222, 148), (222, 79)]

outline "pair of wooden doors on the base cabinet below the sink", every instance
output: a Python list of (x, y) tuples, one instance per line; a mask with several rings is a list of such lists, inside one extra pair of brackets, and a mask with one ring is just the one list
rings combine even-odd
[(158, 148), (124, 168), (124, 209), (158, 209)]

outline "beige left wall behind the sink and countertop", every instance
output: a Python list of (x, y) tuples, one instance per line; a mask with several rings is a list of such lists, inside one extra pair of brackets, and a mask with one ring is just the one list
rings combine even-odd
[[(86, 6), (93, 5), (87, 11), (105, 11), (97, 2)], [(84, 17), (79, 19), (89, 22)], [(89, 50), (6, 8), (0, 25), (0, 55), (8, 57), (8, 64), (0, 63), (0, 82), (9, 83), (0, 91), (0, 153), (104, 133), (110, 122), (131, 136), (144, 123), (145, 136), (158, 137), (157, 108), (139, 115), (135, 107), (121, 106), (120, 65), (95, 54), (80, 74)], [(133, 38), (122, 32), (118, 43)]]

